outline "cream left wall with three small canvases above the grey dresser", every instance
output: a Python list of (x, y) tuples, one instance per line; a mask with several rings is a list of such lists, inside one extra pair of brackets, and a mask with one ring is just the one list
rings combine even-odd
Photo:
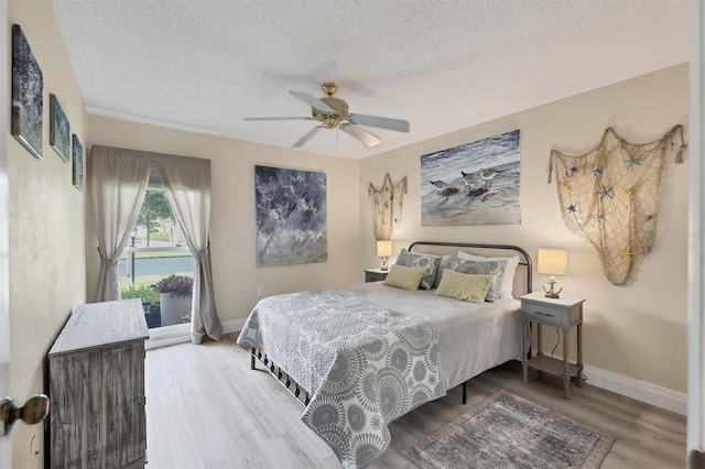
[[(74, 188), (70, 164), (48, 145), (50, 92), (58, 97), (72, 132), (82, 142), (86, 132), (83, 98), (51, 1), (11, 1), (9, 14), (11, 23), (22, 26), (44, 75), (43, 159), (35, 160), (15, 139), (8, 139), (10, 380), (12, 395), (24, 402), (46, 392), (46, 352), (73, 306), (86, 301), (86, 193)], [(42, 467), (43, 440), (42, 425), (15, 425), (12, 467)], [(32, 456), (32, 451), (39, 452)]]

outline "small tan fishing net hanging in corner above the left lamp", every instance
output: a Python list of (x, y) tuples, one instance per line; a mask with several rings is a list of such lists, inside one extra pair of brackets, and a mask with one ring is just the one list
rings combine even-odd
[(401, 225), (401, 209), (406, 194), (406, 178), (404, 177), (395, 186), (389, 173), (384, 176), (384, 183), (379, 189), (372, 183), (367, 192), (372, 197), (372, 220), (375, 221), (375, 239), (389, 241), (395, 229)]

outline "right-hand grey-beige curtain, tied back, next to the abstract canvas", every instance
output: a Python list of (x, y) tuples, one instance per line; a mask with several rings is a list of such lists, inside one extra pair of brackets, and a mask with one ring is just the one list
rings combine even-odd
[(204, 336), (220, 340), (223, 326), (216, 312), (210, 269), (210, 161), (153, 155), (172, 210), (194, 257), (192, 342)]

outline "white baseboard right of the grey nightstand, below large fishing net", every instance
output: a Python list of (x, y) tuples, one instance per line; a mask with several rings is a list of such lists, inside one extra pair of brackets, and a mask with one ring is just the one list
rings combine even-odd
[(594, 386), (636, 399), (676, 414), (686, 415), (687, 413), (686, 393), (588, 366), (585, 367), (583, 373), (587, 377), (587, 383)]

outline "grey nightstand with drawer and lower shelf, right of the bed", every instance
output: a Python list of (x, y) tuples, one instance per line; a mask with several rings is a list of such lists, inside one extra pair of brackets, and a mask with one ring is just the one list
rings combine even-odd
[[(572, 375), (575, 375), (575, 382), (578, 386), (583, 385), (583, 303), (585, 299), (570, 297), (546, 298), (543, 292), (529, 293), (519, 299), (521, 299), (523, 328), (523, 334), (521, 335), (523, 382), (529, 382), (529, 368), (563, 377), (563, 397), (568, 399)], [(539, 350), (535, 357), (527, 360), (524, 340), (531, 337), (531, 323), (536, 326)], [(563, 360), (543, 355), (542, 326), (556, 327), (563, 331)], [(577, 328), (577, 363), (568, 361), (568, 331), (573, 327)]]

